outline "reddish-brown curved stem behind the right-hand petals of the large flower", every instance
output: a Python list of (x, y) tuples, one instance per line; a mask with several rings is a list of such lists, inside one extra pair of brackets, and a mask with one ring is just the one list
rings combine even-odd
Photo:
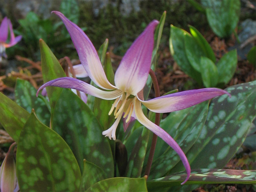
[[(152, 69), (150, 69), (149, 75), (152, 78), (152, 82), (153, 82), (154, 90), (155, 90), (155, 95), (156, 95), (156, 97), (160, 97), (160, 91), (159, 91), (159, 86), (158, 86), (158, 82), (157, 82), (157, 79), (156, 79), (155, 72)], [(160, 124), (160, 113), (156, 113), (155, 124), (156, 125)], [(153, 162), (153, 157), (154, 157), (154, 153), (155, 153), (155, 149), (156, 149), (156, 141), (157, 141), (157, 135), (155, 133), (153, 133), (151, 148), (150, 148), (150, 151), (149, 151), (148, 162), (147, 162), (146, 171), (145, 171), (145, 175), (147, 175), (147, 176), (149, 176), (151, 165), (152, 165), (152, 162)]]

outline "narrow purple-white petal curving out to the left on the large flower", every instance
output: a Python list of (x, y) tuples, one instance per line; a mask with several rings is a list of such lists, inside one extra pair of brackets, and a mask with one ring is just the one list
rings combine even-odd
[(47, 86), (54, 86), (54, 87), (63, 87), (63, 88), (70, 88), (70, 89), (76, 89), (78, 91), (85, 92), (87, 94), (90, 94), (94, 97), (98, 97), (100, 99), (105, 100), (113, 100), (119, 97), (122, 94), (122, 91), (120, 90), (114, 90), (114, 91), (102, 91), (88, 83), (85, 83), (84, 81), (81, 81), (79, 79), (75, 79), (72, 77), (61, 77), (58, 79), (54, 79), (52, 81), (49, 81), (45, 84), (43, 84), (36, 92), (36, 95), (38, 95), (39, 91), (44, 89), (44, 87)]

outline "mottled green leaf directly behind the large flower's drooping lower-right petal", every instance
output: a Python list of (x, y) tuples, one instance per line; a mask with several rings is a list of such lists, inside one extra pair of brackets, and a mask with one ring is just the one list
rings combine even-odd
[[(182, 151), (186, 152), (193, 146), (196, 142), (200, 132), (202, 131), (204, 122), (207, 116), (208, 102), (204, 101), (196, 106), (186, 109), (187, 115), (185, 118), (181, 118), (177, 123), (178, 126), (170, 127), (170, 124), (161, 124), (162, 128), (173, 137), (173, 139), (180, 145)], [(171, 113), (172, 114), (172, 113)], [(184, 116), (181, 114), (181, 117)], [(172, 121), (176, 122), (175, 115), (172, 116)], [(195, 119), (195, 117), (198, 117)], [(168, 121), (170, 122), (170, 120)], [(171, 124), (172, 125), (172, 124)], [(149, 179), (159, 178), (164, 176), (169, 170), (180, 161), (180, 157), (177, 153), (168, 146), (164, 154), (159, 156), (153, 161)], [(184, 166), (182, 165), (182, 170)]]

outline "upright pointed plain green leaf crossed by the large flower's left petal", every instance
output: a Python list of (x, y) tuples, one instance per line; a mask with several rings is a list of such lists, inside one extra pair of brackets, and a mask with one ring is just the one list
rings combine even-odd
[[(53, 79), (57, 79), (59, 77), (65, 77), (66, 74), (62, 67), (60, 66), (59, 61), (52, 53), (51, 49), (47, 46), (47, 44), (40, 39), (39, 40), (40, 51), (41, 51), (41, 65), (42, 65), (42, 75), (44, 83), (51, 81)], [(51, 113), (58, 101), (60, 94), (62, 92), (62, 88), (60, 87), (46, 87), (47, 95), (51, 104)]]

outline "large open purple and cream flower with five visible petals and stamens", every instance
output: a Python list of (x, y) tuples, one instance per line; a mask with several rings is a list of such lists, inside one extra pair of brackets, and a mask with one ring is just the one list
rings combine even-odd
[(98, 89), (75, 78), (62, 77), (42, 85), (38, 89), (37, 94), (46, 86), (56, 86), (76, 89), (105, 100), (115, 100), (108, 115), (114, 113), (116, 121), (108, 130), (103, 131), (102, 134), (108, 136), (109, 139), (113, 138), (113, 140), (116, 140), (116, 128), (123, 113), (123, 117), (127, 117), (126, 122), (130, 120), (134, 113), (136, 119), (141, 124), (162, 138), (178, 153), (187, 170), (187, 178), (182, 183), (184, 184), (190, 175), (190, 166), (187, 157), (167, 132), (148, 120), (142, 112), (141, 104), (153, 112), (167, 113), (191, 107), (213, 97), (228, 94), (228, 92), (217, 88), (206, 88), (173, 93), (144, 101), (139, 92), (145, 86), (148, 78), (154, 46), (154, 30), (159, 23), (157, 20), (149, 23), (147, 28), (127, 50), (116, 70), (115, 85), (112, 85), (104, 73), (97, 51), (90, 39), (76, 24), (68, 20), (62, 13), (57, 11), (54, 11), (54, 13), (64, 22), (88, 76), (96, 85), (108, 91)]

